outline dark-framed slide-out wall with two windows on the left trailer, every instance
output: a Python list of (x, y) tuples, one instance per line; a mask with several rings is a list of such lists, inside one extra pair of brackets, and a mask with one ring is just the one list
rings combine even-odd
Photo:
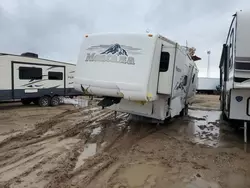
[(65, 94), (65, 66), (12, 64), (15, 99)]

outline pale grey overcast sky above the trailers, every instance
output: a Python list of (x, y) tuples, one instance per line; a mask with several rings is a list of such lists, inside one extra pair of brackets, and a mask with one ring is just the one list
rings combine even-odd
[(211, 50), (210, 76), (218, 77), (232, 15), (249, 8), (250, 0), (0, 0), (0, 52), (75, 63), (86, 33), (149, 29), (195, 47), (199, 76)]

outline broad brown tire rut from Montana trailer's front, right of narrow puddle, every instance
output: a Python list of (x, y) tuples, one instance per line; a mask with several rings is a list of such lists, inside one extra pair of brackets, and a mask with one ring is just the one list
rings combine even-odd
[[(123, 119), (120, 119), (120, 121), (121, 120)], [(113, 124), (113, 126), (116, 126), (117, 123), (119, 123), (119, 121)], [(127, 132), (129, 126), (134, 128), (132, 132)], [(71, 171), (69, 174), (70, 178), (67, 181), (61, 182), (55, 187), (87, 187), (117, 160), (128, 155), (128, 151), (134, 144), (159, 130), (160, 129), (150, 124), (138, 125), (135, 122), (126, 122), (120, 133), (114, 137), (103, 150), (95, 156), (86, 159), (82, 166), (75, 171)], [(83, 178), (80, 178), (77, 183), (73, 183), (77, 176), (83, 174)]]

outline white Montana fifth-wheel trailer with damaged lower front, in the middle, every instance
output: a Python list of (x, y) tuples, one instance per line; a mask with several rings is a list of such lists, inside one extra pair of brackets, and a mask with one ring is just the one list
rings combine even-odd
[(103, 107), (161, 121), (185, 112), (197, 75), (188, 50), (161, 35), (104, 33), (86, 35), (74, 84)]

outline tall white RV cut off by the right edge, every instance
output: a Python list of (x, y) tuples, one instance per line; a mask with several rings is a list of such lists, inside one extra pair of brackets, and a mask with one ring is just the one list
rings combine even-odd
[(226, 119), (250, 120), (250, 12), (232, 19), (220, 61), (221, 110)]

